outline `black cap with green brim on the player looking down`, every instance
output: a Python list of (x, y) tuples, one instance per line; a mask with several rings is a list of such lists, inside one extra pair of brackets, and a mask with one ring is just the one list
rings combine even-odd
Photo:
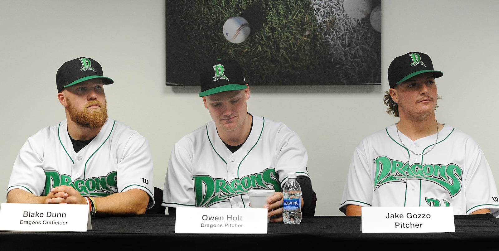
[(218, 59), (201, 69), (200, 97), (224, 91), (246, 89), (246, 78), (241, 65), (233, 59)]

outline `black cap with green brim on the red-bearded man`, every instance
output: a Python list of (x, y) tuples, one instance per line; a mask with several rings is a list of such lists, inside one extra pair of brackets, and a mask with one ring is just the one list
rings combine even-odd
[(61, 92), (65, 87), (93, 78), (102, 78), (104, 84), (114, 83), (112, 79), (104, 77), (102, 67), (92, 58), (79, 57), (67, 61), (57, 70), (55, 77), (57, 92)]

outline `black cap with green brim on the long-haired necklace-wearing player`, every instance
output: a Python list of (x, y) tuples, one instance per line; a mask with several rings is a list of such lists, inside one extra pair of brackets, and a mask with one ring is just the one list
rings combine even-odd
[(388, 83), (394, 88), (407, 79), (418, 74), (432, 72), (434, 77), (444, 75), (442, 71), (434, 70), (430, 56), (422, 52), (409, 52), (393, 59), (388, 67)]

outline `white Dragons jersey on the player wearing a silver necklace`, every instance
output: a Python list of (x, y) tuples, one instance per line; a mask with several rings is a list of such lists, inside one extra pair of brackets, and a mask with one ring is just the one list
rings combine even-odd
[[(437, 134), (412, 141), (415, 153), (428, 152)], [(438, 143), (418, 156), (402, 146), (395, 124), (364, 138), (355, 148), (339, 210), (346, 205), (373, 207), (453, 207), (455, 215), (499, 209), (491, 168), (478, 143), (445, 125)]]

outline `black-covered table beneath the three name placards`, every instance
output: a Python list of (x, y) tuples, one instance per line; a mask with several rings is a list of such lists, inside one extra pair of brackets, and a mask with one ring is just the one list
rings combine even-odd
[[(455, 216), (452, 233), (362, 233), (360, 217), (309, 216), (299, 225), (268, 224), (267, 234), (175, 234), (175, 216), (93, 218), (87, 232), (4, 232), (0, 251), (9, 250), (256, 250), (285, 245), (327, 250), (499, 250), (499, 219), (491, 214)], [(296, 240), (293, 243), (292, 240)], [(249, 244), (252, 245), (249, 245)], [(62, 246), (61, 246), (62, 245)], [(56, 248), (58, 247), (58, 248)], [(158, 248), (153, 248), (158, 247)], [(182, 249), (184, 250), (184, 249)]]

